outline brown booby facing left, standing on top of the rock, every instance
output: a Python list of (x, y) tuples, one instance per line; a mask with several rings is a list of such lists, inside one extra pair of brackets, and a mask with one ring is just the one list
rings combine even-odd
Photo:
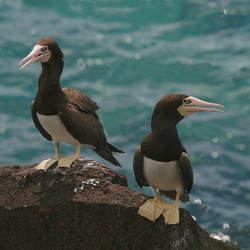
[[(57, 161), (58, 167), (70, 167), (80, 157), (81, 146), (90, 147), (105, 160), (121, 166), (112, 152), (124, 152), (107, 142), (96, 113), (97, 103), (79, 90), (60, 87), (64, 61), (57, 42), (49, 37), (40, 39), (20, 64), (28, 59), (20, 69), (34, 62), (42, 65), (38, 92), (31, 104), (32, 118), (39, 132), (55, 144), (55, 157), (42, 161), (37, 169), (46, 170)], [(76, 153), (61, 157), (60, 142), (76, 145)]]

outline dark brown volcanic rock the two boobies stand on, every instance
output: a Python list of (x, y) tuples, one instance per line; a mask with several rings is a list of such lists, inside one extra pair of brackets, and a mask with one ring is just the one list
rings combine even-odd
[(0, 249), (238, 249), (180, 209), (180, 224), (139, 216), (148, 199), (89, 159), (70, 169), (0, 168)]

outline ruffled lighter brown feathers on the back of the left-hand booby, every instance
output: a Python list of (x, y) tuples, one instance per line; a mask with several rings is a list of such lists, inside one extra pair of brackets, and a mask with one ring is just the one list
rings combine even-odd
[(90, 112), (97, 116), (95, 111), (99, 109), (99, 106), (87, 95), (73, 88), (63, 88), (62, 90), (66, 94), (68, 102), (71, 105), (76, 106), (78, 109), (84, 112)]

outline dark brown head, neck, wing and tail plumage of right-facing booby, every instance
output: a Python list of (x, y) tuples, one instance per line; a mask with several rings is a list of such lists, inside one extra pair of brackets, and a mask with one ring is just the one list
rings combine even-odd
[[(136, 181), (143, 187), (149, 186), (143, 175), (143, 156), (161, 162), (176, 160), (184, 183), (184, 193), (180, 196), (183, 203), (189, 201), (187, 193), (190, 193), (193, 187), (193, 170), (186, 149), (181, 144), (176, 125), (184, 118), (177, 108), (187, 97), (187, 95), (172, 94), (157, 103), (151, 119), (152, 132), (136, 149), (133, 164)], [(176, 198), (176, 191), (160, 190), (160, 193), (173, 200)]]

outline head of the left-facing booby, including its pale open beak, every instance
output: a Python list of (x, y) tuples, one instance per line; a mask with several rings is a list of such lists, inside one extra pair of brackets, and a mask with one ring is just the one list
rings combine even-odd
[(34, 62), (47, 63), (53, 60), (62, 61), (62, 59), (63, 53), (57, 42), (53, 38), (45, 37), (36, 43), (32, 51), (19, 64), (29, 60), (20, 68), (23, 69)]

